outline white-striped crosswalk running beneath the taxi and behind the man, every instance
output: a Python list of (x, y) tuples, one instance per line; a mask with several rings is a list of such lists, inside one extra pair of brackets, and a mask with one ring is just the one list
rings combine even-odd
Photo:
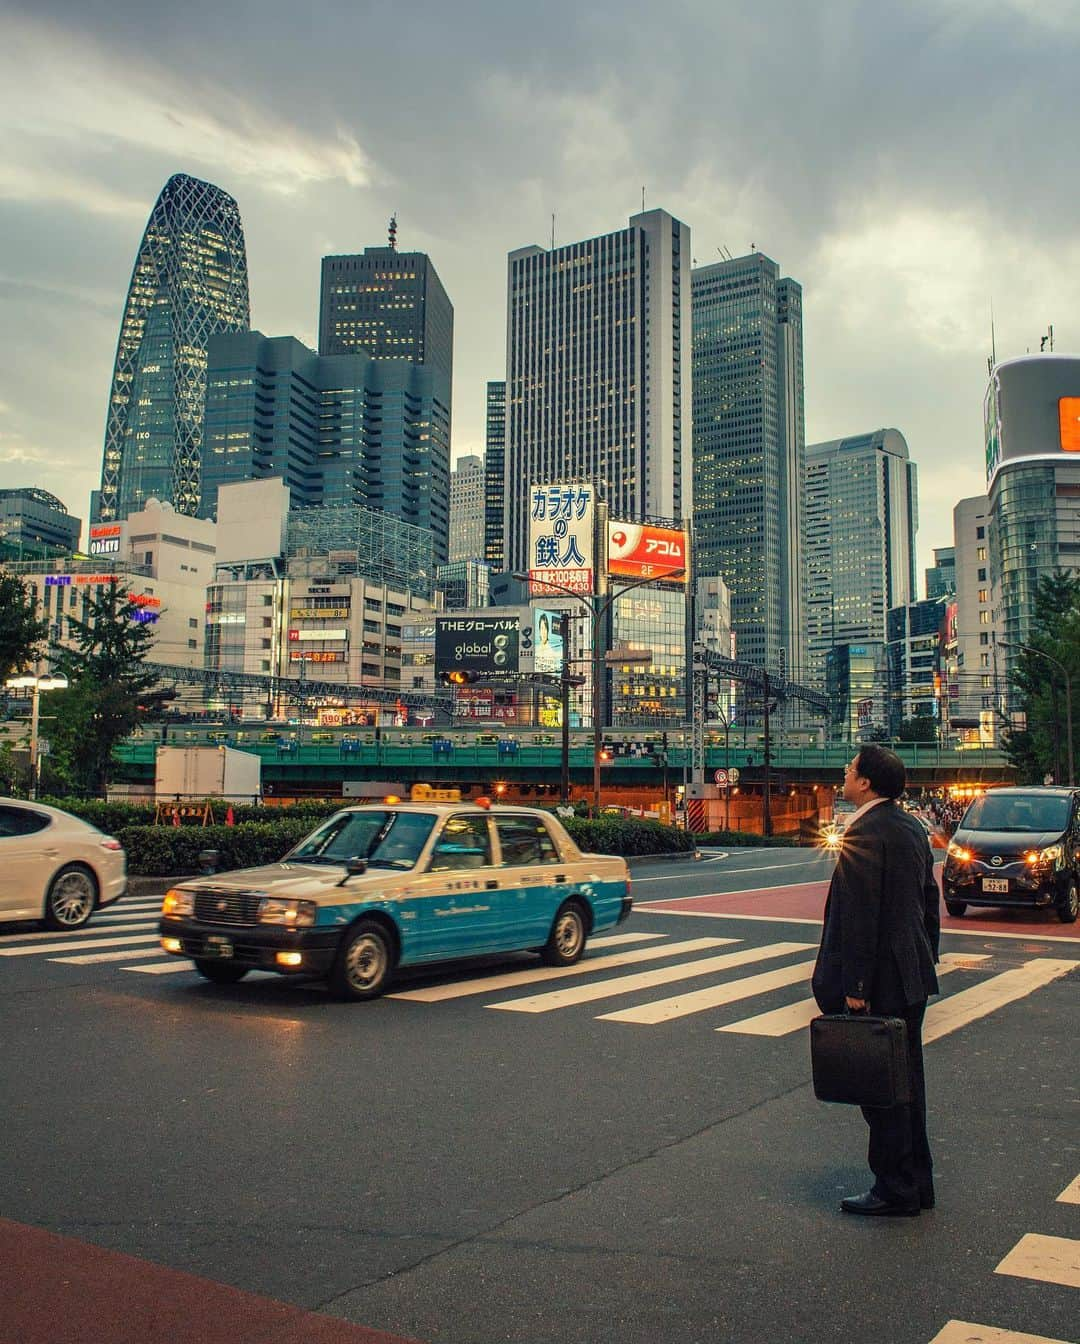
[[(159, 898), (133, 899), (73, 933), (3, 935), (0, 958), (38, 957), (138, 976), (191, 973), (191, 961), (161, 952), (159, 910)], [(814, 953), (815, 943), (809, 939), (758, 943), (725, 935), (678, 938), (623, 930), (590, 939), (587, 956), (572, 966), (524, 960), (510, 969), (480, 973), (439, 966), (427, 982), (406, 978), (388, 997), (429, 1007), (476, 1000), (484, 1008), (521, 1016), (576, 1009), (623, 1027), (686, 1020), (725, 1035), (784, 1038), (805, 1031), (818, 1012), (807, 993)], [(993, 966), (990, 953), (943, 956), (938, 968), (943, 996), (927, 1011), (927, 1043), (1052, 984), (1080, 968), (1080, 958), (1030, 957), (998, 973)], [(666, 986), (676, 992), (662, 993)]]

